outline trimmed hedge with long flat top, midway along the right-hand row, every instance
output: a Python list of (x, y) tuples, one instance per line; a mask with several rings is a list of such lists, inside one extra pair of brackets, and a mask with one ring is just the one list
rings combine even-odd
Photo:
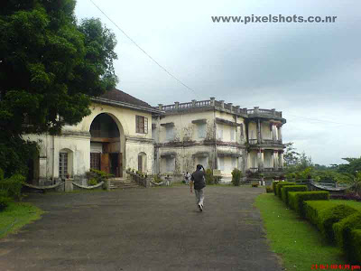
[(327, 191), (312, 191), (312, 192), (289, 192), (288, 202), (289, 206), (305, 216), (304, 201), (321, 201), (329, 200), (329, 192)]

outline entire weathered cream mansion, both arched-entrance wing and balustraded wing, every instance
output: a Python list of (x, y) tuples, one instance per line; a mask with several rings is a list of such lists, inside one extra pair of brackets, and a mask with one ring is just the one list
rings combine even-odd
[(182, 180), (196, 164), (229, 181), (244, 173), (281, 175), (282, 112), (240, 108), (215, 98), (152, 107), (113, 89), (92, 98), (91, 114), (61, 135), (24, 135), (39, 145), (28, 182), (47, 185), (66, 176), (86, 184), (90, 168), (126, 178), (126, 169)]

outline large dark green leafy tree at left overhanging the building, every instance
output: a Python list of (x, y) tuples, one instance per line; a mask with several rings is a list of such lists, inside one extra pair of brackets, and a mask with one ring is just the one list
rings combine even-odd
[(97, 19), (77, 23), (75, 4), (0, 3), (0, 168), (5, 175), (26, 173), (33, 145), (23, 134), (59, 134), (65, 124), (88, 116), (91, 96), (116, 85), (115, 35)]

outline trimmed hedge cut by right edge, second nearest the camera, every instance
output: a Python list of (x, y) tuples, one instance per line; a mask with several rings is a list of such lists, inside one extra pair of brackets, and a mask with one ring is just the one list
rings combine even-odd
[(351, 231), (353, 229), (361, 229), (361, 212), (357, 211), (346, 219), (340, 220), (333, 225), (332, 229), (338, 246), (344, 248), (349, 254), (349, 249), (352, 246)]

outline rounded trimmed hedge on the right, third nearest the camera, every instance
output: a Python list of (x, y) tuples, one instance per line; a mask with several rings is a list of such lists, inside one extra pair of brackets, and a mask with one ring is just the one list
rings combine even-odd
[(327, 238), (330, 242), (335, 241), (335, 234), (332, 229), (333, 224), (339, 220), (347, 218), (349, 215), (355, 213), (357, 210), (344, 205), (339, 204), (329, 209), (319, 212), (319, 230), (322, 235)]

